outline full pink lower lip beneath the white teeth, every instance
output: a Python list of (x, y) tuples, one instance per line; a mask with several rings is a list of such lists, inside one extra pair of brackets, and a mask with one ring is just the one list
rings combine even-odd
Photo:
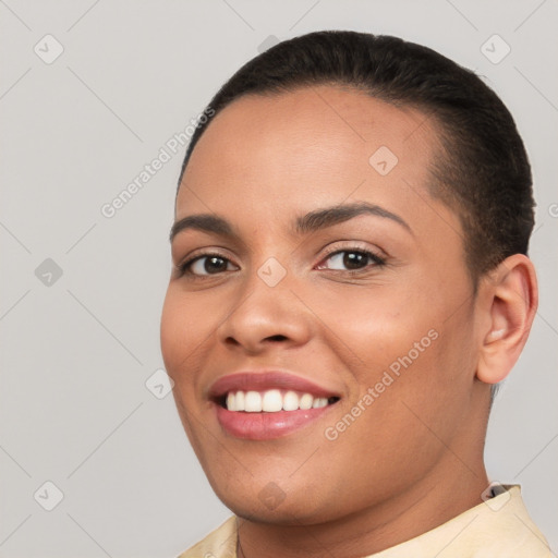
[(231, 436), (248, 440), (270, 440), (307, 426), (332, 405), (276, 413), (235, 412), (218, 404), (215, 407), (219, 424)]

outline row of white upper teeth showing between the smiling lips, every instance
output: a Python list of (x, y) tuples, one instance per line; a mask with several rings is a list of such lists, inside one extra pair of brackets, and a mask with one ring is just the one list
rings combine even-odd
[(282, 393), (279, 389), (258, 391), (229, 391), (226, 398), (226, 405), (229, 411), (244, 411), (246, 413), (277, 413), (279, 411), (298, 411), (308, 409), (320, 409), (327, 407), (328, 399), (314, 397), (311, 393), (296, 393), (287, 391)]

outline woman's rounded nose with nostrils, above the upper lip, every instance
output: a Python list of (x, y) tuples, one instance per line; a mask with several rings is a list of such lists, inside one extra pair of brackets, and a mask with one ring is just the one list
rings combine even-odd
[(270, 287), (253, 274), (218, 328), (229, 348), (257, 354), (272, 347), (300, 347), (312, 335), (312, 315), (283, 279)]

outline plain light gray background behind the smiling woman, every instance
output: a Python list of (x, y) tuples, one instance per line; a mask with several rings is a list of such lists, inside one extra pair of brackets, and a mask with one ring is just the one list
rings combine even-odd
[[(324, 28), (430, 46), (485, 76), (517, 119), (535, 175), (542, 304), (486, 460), (493, 480), (522, 484), (558, 548), (556, 0), (7, 0), (0, 17), (0, 556), (172, 557), (229, 515), (172, 396), (145, 385), (162, 367), (184, 149), (114, 217), (100, 208), (270, 35)], [(56, 52), (47, 34), (64, 49), (49, 64), (34, 51)], [(494, 34), (511, 47), (499, 63), (481, 50)], [(499, 58), (505, 46), (488, 48)], [(51, 263), (36, 276), (47, 258), (60, 278)], [(64, 496), (52, 511), (47, 481)]]

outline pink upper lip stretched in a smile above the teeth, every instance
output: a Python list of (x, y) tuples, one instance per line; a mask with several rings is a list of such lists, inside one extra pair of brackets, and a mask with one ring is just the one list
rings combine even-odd
[(218, 378), (209, 388), (209, 399), (217, 400), (229, 391), (265, 391), (268, 389), (292, 390), (311, 393), (314, 397), (340, 397), (338, 392), (290, 372), (245, 371)]

